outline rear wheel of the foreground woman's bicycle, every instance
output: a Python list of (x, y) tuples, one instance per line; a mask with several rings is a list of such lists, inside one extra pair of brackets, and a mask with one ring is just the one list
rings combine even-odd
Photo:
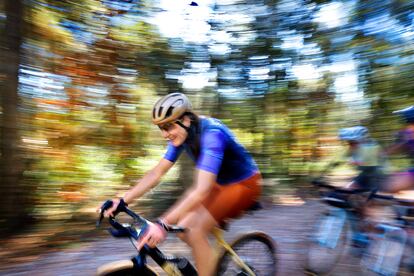
[[(276, 245), (263, 232), (244, 234), (233, 241), (232, 249), (254, 275), (276, 275)], [(250, 275), (237, 264), (229, 251), (225, 251), (217, 263), (216, 275)]]

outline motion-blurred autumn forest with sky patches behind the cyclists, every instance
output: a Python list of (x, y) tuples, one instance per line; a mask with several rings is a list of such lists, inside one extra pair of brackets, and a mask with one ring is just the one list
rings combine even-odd
[[(413, 103), (414, 1), (167, 2), (0, 1), (2, 230), (122, 195), (164, 153), (150, 112), (170, 92), (231, 127), (268, 197), (300, 188), (341, 127), (389, 145)], [(191, 184), (181, 159), (142, 208)]]

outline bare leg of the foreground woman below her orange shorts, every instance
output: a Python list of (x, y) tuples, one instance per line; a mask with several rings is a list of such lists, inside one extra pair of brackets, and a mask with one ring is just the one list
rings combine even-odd
[(191, 247), (198, 275), (212, 276), (217, 256), (208, 241), (208, 235), (217, 226), (216, 220), (204, 206), (200, 206), (181, 219), (178, 225), (189, 229), (178, 236)]

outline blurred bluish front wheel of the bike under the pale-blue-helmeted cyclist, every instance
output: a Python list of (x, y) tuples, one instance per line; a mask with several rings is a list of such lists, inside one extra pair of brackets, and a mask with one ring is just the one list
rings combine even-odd
[(343, 209), (334, 209), (318, 222), (309, 241), (305, 271), (329, 275), (341, 259), (348, 242), (350, 223)]

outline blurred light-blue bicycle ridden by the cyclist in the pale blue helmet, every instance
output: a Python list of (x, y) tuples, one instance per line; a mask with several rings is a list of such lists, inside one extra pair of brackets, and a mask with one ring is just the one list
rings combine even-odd
[(356, 247), (364, 247), (367, 243), (366, 234), (361, 231), (361, 210), (356, 208), (350, 198), (355, 196), (367, 200), (374, 192), (367, 189), (341, 189), (322, 178), (312, 181), (312, 184), (320, 189), (322, 201), (328, 208), (318, 219), (309, 239), (305, 273), (329, 275), (351, 240)]

